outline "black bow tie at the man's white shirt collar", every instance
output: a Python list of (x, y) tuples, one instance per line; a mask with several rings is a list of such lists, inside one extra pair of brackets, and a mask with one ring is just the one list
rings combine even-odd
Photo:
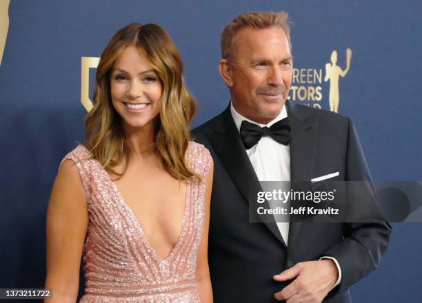
[(262, 136), (271, 136), (278, 143), (288, 145), (290, 142), (290, 124), (288, 118), (274, 123), (269, 128), (259, 127), (256, 124), (243, 120), (240, 134), (245, 149), (250, 149), (261, 140)]

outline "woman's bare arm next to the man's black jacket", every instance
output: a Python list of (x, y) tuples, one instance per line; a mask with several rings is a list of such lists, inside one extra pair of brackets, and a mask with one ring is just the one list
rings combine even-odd
[(197, 289), (201, 303), (212, 303), (212, 288), (210, 280), (210, 269), (208, 268), (208, 229), (210, 227), (210, 201), (212, 189), (212, 176), (214, 163), (211, 160), (210, 173), (206, 180), (204, 200), (203, 235), (199, 244), (197, 257)]

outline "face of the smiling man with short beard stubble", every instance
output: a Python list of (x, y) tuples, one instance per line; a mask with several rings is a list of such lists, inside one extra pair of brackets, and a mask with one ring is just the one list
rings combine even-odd
[(282, 28), (242, 28), (235, 36), (234, 62), (225, 82), (234, 108), (246, 118), (267, 124), (276, 118), (292, 83), (292, 54)]

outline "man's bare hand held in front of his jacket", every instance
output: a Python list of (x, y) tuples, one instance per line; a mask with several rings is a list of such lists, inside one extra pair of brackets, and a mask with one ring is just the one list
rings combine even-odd
[[(295, 278), (295, 279), (294, 279)], [(339, 278), (336, 264), (330, 259), (300, 262), (273, 279), (279, 282), (294, 281), (274, 297), (286, 303), (321, 303)]]

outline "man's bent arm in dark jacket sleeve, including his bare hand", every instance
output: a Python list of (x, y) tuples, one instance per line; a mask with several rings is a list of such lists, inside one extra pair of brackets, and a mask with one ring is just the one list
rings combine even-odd
[[(348, 142), (346, 150), (346, 181), (365, 181), (365, 198), (374, 196), (372, 178), (356, 129), (352, 121), (348, 123)], [(363, 184), (363, 182), (362, 182)], [(372, 202), (372, 201), (368, 201)], [(359, 208), (361, 201), (348, 200)], [(372, 205), (365, 209), (372, 209)], [(361, 280), (378, 266), (381, 255), (385, 252), (390, 239), (391, 226), (388, 222), (373, 218), (372, 213), (364, 213), (365, 222), (344, 223), (343, 241), (321, 253), (319, 261), (299, 262), (279, 275), (274, 275), (276, 281), (294, 281), (282, 291), (274, 294), (277, 300), (292, 300), (292, 302), (322, 302), (330, 291), (343, 291), (351, 284)], [(326, 260), (332, 257), (334, 260)], [(338, 265), (337, 265), (338, 264)], [(340, 268), (338, 268), (340, 267)], [(341, 273), (341, 278), (336, 274)], [(337, 279), (340, 280), (336, 286)], [(338, 280), (337, 280), (338, 281)], [(336, 287), (334, 287), (336, 286)]]

